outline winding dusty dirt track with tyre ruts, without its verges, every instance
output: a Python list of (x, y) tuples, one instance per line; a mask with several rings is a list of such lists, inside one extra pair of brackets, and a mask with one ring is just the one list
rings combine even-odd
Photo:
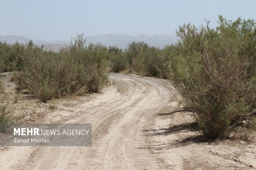
[(92, 147), (12, 148), (9, 156), (0, 157), (1, 168), (168, 169), (149, 149), (145, 135), (154, 114), (176, 100), (168, 81), (137, 75), (109, 77), (116, 85), (94, 100), (73, 108), (73, 113), (56, 111), (45, 118), (45, 122), (55, 123), (59, 120), (56, 115), (75, 114), (67, 123), (92, 123)]

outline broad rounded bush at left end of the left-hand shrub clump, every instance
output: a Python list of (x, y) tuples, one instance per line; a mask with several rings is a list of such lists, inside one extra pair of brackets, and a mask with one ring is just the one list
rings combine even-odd
[[(46, 102), (56, 95), (59, 90), (61, 70), (66, 69), (58, 57), (43, 47), (36, 47), (30, 42), (23, 56), (23, 67), (15, 76), (21, 89)], [(60, 73), (60, 74), (58, 74)], [(59, 83), (59, 84), (58, 84)]]

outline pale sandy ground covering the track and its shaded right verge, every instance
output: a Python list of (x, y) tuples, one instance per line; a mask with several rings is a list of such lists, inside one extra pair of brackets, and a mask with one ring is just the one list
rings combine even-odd
[(178, 95), (168, 80), (121, 74), (110, 74), (109, 78), (113, 85), (105, 87), (102, 93), (65, 102), (62, 99), (58, 109), (32, 119), (40, 123), (92, 123), (92, 147), (2, 148), (0, 169), (256, 167), (255, 142), (200, 140), (191, 113), (179, 105)]

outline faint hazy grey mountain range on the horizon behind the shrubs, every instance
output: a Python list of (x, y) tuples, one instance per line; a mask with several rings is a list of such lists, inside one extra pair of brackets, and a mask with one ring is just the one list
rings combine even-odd
[[(14, 44), (15, 42), (26, 44), (29, 40), (24, 36), (16, 35), (0, 35), (1, 42), (7, 42), (9, 44)], [(98, 43), (104, 44), (105, 46), (117, 46), (121, 49), (125, 49), (127, 44), (133, 41), (144, 41), (149, 46), (159, 47), (160, 49), (164, 48), (168, 44), (175, 44), (178, 42), (178, 37), (175, 35), (153, 35), (148, 36), (141, 34), (139, 36), (130, 36), (130, 35), (116, 35), (116, 34), (106, 34), (98, 35), (93, 37), (86, 37), (86, 43)], [(45, 40), (33, 40), (34, 44), (42, 45), (44, 44), (45, 49), (58, 51), (61, 47), (70, 44), (71, 40), (67, 41), (45, 41)]]

